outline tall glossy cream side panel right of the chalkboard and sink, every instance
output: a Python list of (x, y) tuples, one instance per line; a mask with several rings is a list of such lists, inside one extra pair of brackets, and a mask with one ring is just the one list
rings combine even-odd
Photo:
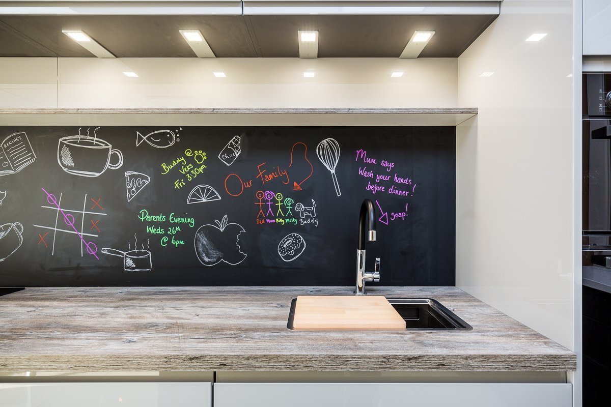
[[(458, 59), (458, 104), (479, 114), (458, 126), (456, 146), (456, 285), (569, 348), (571, 27), (571, 1), (503, 1)], [(525, 41), (535, 33), (547, 35)]]

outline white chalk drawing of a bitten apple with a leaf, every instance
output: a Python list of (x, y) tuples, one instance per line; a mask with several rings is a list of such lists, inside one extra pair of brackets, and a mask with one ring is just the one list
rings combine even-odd
[(240, 236), (246, 234), (237, 223), (228, 223), (227, 215), (216, 225), (203, 225), (195, 234), (194, 245), (197, 258), (203, 265), (215, 265), (220, 262), (236, 265), (246, 259), (246, 253), (240, 247)]

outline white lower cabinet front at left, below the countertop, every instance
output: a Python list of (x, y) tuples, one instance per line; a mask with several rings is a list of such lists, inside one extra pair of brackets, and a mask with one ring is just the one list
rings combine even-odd
[(0, 383), (1, 407), (211, 407), (212, 383)]

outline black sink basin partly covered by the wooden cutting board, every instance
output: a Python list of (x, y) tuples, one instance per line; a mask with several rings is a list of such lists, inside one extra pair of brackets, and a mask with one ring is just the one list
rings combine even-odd
[[(403, 318), (406, 330), (457, 330), (469, 331), (473, 327), (460, 319), (454, 312), (432, 298), (387, 298)], [(293, 330), (293, 318), (297, 298), (291, 301), (287, 328)]]

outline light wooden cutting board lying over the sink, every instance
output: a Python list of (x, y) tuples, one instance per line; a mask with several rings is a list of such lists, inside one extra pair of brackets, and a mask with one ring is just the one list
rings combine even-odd
[(305, 296), (295, 305), (296, 331), (399, 331), (405, 321), (388, 300), (379, 295)]

